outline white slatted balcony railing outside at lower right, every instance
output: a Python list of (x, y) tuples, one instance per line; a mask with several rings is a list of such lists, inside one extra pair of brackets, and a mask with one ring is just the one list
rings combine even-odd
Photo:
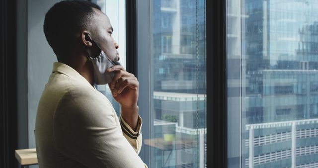
[[(256, 165), (276, 162), (290, 158), (292, 162), (291, 168), (303, 168), (304, 165), (297, 165), (296, 157), (318, 154), (318, 145), (297, 147), (296, 141), (300, 141), (303, 138), (318, 138), (318, 128), (305, 128), (306, 125), (312, 124), (318, 124), (318, 119), (315, 118), (245, 125), (245, 130), (249, 133), (248, 139), (245, 140), (245, 147), (248, 148), (249, 151), (248, 158), (245, 158), (245, 167), (254, 168), (254, 166)], [(257, 137), (254, 136), (254, 130), (280, 127), (290, 127), (290, 131), (270, 135), (261, 135)], [(299, 128), (297, 129), (297, 127)], [(281, 151), (271, 151), (270, 153), (256, 156), (254, 155), (255, 147), (287, 141), (291, 142), (291, 146), (289, 149)]]

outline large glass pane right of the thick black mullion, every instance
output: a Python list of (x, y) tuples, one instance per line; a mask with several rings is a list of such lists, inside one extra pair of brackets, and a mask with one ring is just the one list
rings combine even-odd
[(317, 16), (317, 0), (227, 0), (229, 168), (318, 167)]

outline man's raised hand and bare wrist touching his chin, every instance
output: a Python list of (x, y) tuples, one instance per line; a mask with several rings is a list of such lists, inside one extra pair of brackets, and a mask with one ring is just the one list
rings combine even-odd
[(108, 84), (115, 100), (121, 106), (121, 113), (127, 124), (136, 130), (139, 107), (137, 105), (139, 95), (139, 82), (137, 78), (128, 73), (123, 66), (115, 65), (108, 72), (114, 72), (112, 81)]

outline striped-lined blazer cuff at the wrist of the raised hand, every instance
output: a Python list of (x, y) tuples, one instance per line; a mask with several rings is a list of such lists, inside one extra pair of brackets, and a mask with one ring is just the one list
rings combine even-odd
[(138, 116), (138, 125), (136, 131), (134, 131), (124, 120), (122, 115), (120, 115), (120, 126), (123, 131), (124, 137), (130, 143), (130, 145), (134, 148), (137, 154), (140, 153), (143, 138), (141, 134), (141, 127), (143, 125), (143, 120), (140, 116)]

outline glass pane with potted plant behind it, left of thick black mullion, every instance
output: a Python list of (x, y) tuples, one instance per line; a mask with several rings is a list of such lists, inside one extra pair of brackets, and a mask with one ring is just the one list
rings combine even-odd
[(205, 168), (205, 0), (151, 4), (151, 168)]

